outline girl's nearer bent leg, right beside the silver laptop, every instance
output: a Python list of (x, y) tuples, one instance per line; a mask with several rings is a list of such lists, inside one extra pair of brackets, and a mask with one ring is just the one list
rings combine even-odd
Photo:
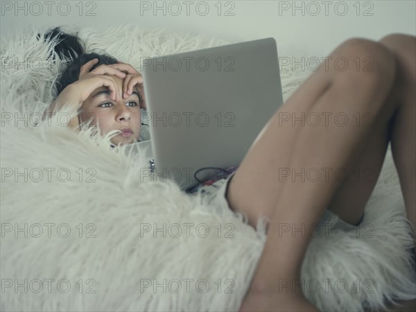
[[(272, 292), (280, 306), (265, 307), (271, 310), (288, 309), (295, 297), (302, 299), (302, 295), (294, 295), (290, 291), (280, 292), (282, 295), (277, 296), (275, 287), (278, 286), (279, 279), (295, 278), (299, 281), (300, 265), (310, 240), (305, 231), (302, 231), (302, 225), (304, 227), (317, 223), (341, 186), (333, 174), (318, 180), (302, 180), (293, 175), (292, 171), (291, 175), (282, 180), (281, 168), (285, 172), (286, 169), (294, 169), (301, 174), (302, 169), (324, 171), (331, 168), (335, 171), (339, 168), (352, 168), (360, 159), (359, 155), (363, 155), (372, 132), (387, 133), (385, 125), (397, 110), (391, 104), (396, 101), (387, 101), (393, 97), (391, 93), (396, 73), (395, 58), (388, 49), (376, 42), (355, 39), (340, 45), (330, 56), (333, 59), (346, 58), (350, 64), (347, 70), (337, 71), (330, 62), (328, 70), (321, 66), (313, 73), (270, 119), (243, 159), (234, 182), (229, 184), (230, 206), (247, 214), (251, 225), (256, 225), (260, 215), (271, 219), (269, 239), (248, 293), (251, 299), (245, 300), (243, 309), (262, 309), (256, 300), (257, 295), (253, 297), (253, 294), (260, 294), (261, 297), (264, 293)], [(369, 57), (372, 71), (359, 71), (351, 66), (357, 62), (357, 58), (363, 62)], [(280, 122), (282, 113), (299, 117), (302, 112), (313, 112), (319, 116), (329, 113), (346, 114), (348, 122), (342, 127), (334, 123), (327, 126), (323, 122), (313, 127), (300, 122)], [(356, 123), (354, 116), (372, 116), (374, 123), (371, 127), (365, 127), (362, 123)], [(379, 144), (374, 143), (374, 150), (381, 149), (385, 152), (385, 141), (379, 141)], [(383, 158), (384, 154), (376, 159), (379, 166)], [(374, 185), (367, 187), (366, 191), (361, 192), (363, 195), (358, 197), (370, 196), (368, 193), (371, 193), (373, 187)], [(347, 214), (340, 217), (351, 223), (358, 221), (366, 200), (361, 201), (361, 208), (354, 211), (349, 209)], [(359, 205), (353, 203), (350, 207), (357, 206)], [(279, 227), (281, 224), (301, 230), (282, 233)], [(251, 306), (250, 302), (256, 302), (257, 305)], [(300, 309), (313, 309), (312, 306), (305, 305), (303, 300), (301, 302)]]

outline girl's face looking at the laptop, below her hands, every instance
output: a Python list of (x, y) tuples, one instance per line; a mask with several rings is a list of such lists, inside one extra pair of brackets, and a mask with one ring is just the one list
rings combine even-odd
[[(119, 94), (123, 94), (123, 79), (115, 77), (116, 87)], [(114, 145), (135, 143), (140, 136), (140, 100), (137, 87), (133, 88), (132, 94), (128, 98), (121, 98), (120, 101), (112, 101), (110, 89), (99, 87), (89, 95), (84, 101), (80, 113), (80, 122), (87, 122), (92, 119), (90, 125), (97, 125), (102, 135), (111, 130), (121, 130), (123, 132), (112, 137)]]

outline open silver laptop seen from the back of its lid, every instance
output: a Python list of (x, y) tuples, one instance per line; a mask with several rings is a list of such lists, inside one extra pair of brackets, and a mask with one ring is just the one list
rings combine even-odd
[(184, 190), (239, 166), (283, 103), (271, 37), (146, 58), (143, 77), (150, 170)]

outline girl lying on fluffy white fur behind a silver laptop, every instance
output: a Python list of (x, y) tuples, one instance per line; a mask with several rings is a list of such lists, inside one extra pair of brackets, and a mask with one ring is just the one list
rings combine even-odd
[[(51, 35), (70, 37), (59, 28)], [(72, 40), (82, 51), (76, 38)], [(248, 216), (250, 225), (255, 227), (260, 217), (268, 219), (268, 239), (241, 311), (318, 311), (302, 294), (291, 293), (291, 287), (279, 291), (279, 279), (300, 284), (300, 267), (311, 239), (299, 232), (282, 235), (279, 223), (299, 228), (318, 223), (324, 214), (336, 214), (345, 224), (358, 225), (390, 141), (406, 214), (415, 229), (415, 55), (416, 38), (409, 35), (388, 35), (379, 42), (353, 38), (340, 44), (329, 62), (271, 116), (238, 171), (220, 187), (216, 199), (225, 199), (230, 209)], [(340, 57), (349, 64), (343, 71), (331, 62)], [(142, 83), (129, 64), (80, 53), (62, 74), (58, 98), (48, 112), (69, 103), (80, 110), (69, 126), (89, 121), (103, 134), (119, 130), (113, 144), (130, 144), (139, 139), (140, 108), (146, 108)], [(282, 113), (298, 120), (302, 113), (343, 113), (349, 122), (281, 123)], [(357, 180), (356, 175), (340, 182), (331, 174), (318, 181), (293, 175), (281, 180), (279, 168), (291, 173), (371, 168), (373, 175), (371, 182)]]

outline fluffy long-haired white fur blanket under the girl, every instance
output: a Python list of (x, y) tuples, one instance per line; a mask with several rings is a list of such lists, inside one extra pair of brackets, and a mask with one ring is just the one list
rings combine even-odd
[[(64, 67), (46, 60), (52, 46), (36, 38), (44, 31), (1, 38), (1, 310), (237, 311), (264, 229), (142, 177), (144, 151), (126, 155), (108, 137), (58, 123), (35, 126)], [(227, 43), (130, 25), (78, 35), (87, 51), (136, 68), (143, 56)], [(307, 76), (281, 71), (285, 100)], [(333, 226), (311, 241), (306, 297), (322, 311), (415, 298), (409, 224), (389, 150), (359, 231)]]

